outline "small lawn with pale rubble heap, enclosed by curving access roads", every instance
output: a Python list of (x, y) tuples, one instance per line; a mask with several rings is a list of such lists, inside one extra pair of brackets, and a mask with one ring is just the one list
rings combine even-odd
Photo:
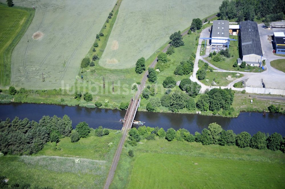
[(215, 86), (213, 81), (217, 86), (227, 86), (229, 83), (242, 76), (243, 74), (237, 75), (237, 73), (233, 72), (207, 72), (205, 79), (200, 81), (207, 86)]

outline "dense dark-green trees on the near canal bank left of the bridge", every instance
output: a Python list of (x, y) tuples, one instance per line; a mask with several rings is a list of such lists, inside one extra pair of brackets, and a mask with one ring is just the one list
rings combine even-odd
[[(0, 150), (3, 154), (30, 155), (40, 151), (48, 141), (56, 144), (60, 138), (70, 136), (71, 142), (77, 142), (89, 136), (89, 133), (90, 127), (86, 122), (78, 123), (73, 130), (72, 121), (67, 115), (62, 118), (43, 116), (39, 122), (27, 118), (21, 120), (19, 117), (13, 121), (0, 119)], [(94, 133), (103, 136), (109, 134), (109, 130), (99, 126)]]

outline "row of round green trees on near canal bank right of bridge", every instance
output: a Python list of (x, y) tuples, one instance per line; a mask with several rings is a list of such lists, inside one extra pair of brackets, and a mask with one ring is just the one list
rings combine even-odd
[(165, 131), (159, 127), (140, 126), (131, 128), (127, 142), (131, 146), (137, 145), (141, 140), (155, 140), (155, 138), (165, 138), (168, 141), (201, 142), (203, 145), (218, 144), (221, 146), (238, 146), (239, 148), (251, 147), (254, 149), (270, 149), (272, 151), (285, 149), (285, 136), (274, 132), (271, 135), (258, 131), (251, 136), (248, 132), (235, 134), (233, 130), (224, 130), (219, 124), (211, 123), (208, 128), (204, 128), (201, 133), (191, 134), (182, 128), (174, 130), (169, 128)]

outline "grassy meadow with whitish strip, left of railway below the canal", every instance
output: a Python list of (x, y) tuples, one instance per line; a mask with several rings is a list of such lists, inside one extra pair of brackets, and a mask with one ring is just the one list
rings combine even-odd
[[(103, 188), (120, 138), (119, 131), (110, 130), (109, 135), (89, 136), (75, 143), (69, 137), (62, 138), (56, 150), (48, 142), (32, 156), (1, 157), (0, 175), (5, 175), (10, 184), (24, 181), (55, 189)], [(113, 144), (109, 146), (110, 142)], [(81, 163), (75, 164), (78, 158)]]

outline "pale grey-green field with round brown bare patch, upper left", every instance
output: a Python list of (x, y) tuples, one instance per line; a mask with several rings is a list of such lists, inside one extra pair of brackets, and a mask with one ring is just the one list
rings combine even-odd
[(16, 6), (35, 6), (36, 13), (13, 51), (11, 84), (27, 89), (70, 88), (115, 3), (15, 0)]

